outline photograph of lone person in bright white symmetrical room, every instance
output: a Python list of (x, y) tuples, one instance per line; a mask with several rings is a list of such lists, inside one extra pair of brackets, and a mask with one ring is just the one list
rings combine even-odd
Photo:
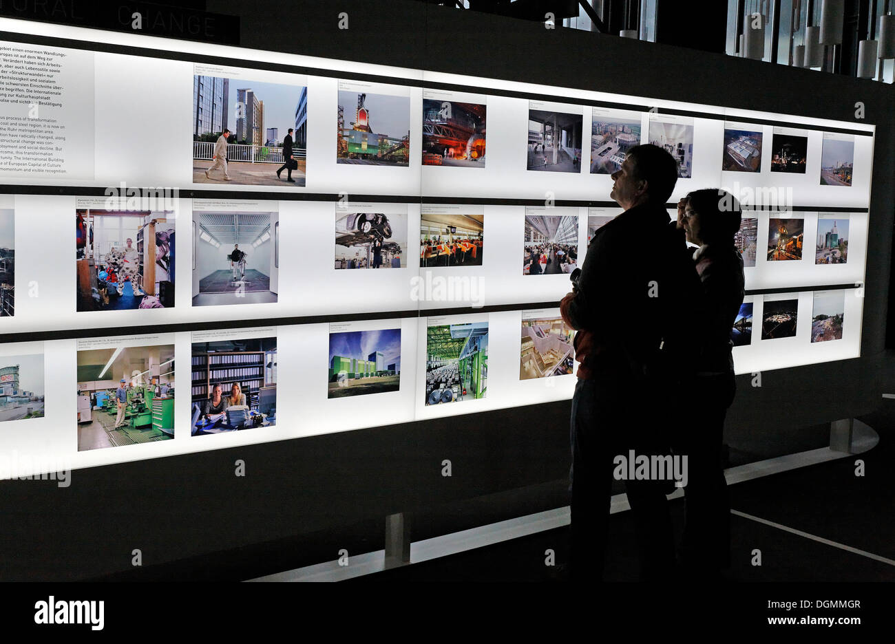
[(275, 212), (192, 213), (192, 305), (277, 301), (279, 216)]

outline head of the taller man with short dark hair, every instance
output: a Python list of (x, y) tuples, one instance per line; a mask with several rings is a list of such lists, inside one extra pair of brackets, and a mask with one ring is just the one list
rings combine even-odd
[(626, 210), (647, 202), (664, 204), (678, 182), (678, 162), (659, 146), (645, 143), (627, 151), (612, 181), (609, 197)]

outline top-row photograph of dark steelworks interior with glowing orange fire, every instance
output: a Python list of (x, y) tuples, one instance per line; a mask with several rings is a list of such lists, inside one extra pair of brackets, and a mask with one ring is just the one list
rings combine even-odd
[(422, 165), (485, 166), (486, 106), (422, 99)]

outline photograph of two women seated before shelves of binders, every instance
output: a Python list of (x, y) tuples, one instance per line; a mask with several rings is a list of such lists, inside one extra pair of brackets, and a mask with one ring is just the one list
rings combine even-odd
[(277, 424), (277, 337), (226, 335), (192, 335), (192, 436)]

